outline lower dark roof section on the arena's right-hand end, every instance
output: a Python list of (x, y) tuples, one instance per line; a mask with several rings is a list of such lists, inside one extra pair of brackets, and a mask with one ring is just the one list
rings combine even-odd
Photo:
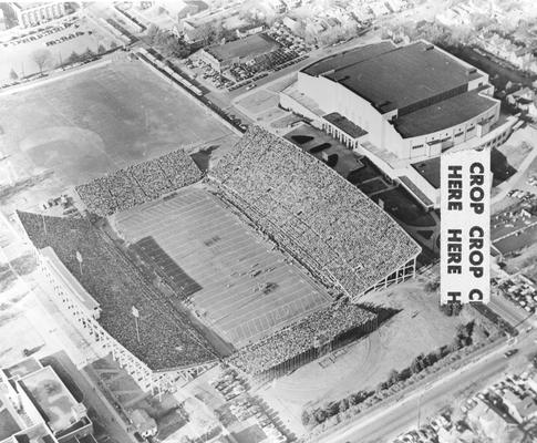
[(394, 127), (405, 138), (431, 134), (464, 123), (496, 105), (499, 105), (496, 100), (468, 91), (405, 114), (394, 121)]

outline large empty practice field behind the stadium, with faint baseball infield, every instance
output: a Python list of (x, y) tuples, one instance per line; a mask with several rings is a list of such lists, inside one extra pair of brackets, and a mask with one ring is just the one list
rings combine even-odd
[(141, 62), (112, 62), (1, 97), (0, 188), (45, 174), (29, 197), (39, 203), (182, 145), (234, 137)]

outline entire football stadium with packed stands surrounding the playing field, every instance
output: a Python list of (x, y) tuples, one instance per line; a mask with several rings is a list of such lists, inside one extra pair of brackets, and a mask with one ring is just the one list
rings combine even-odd
[(366, 292), (415, 275), (417, 244), (324, 163), (260, 127), (203, 177), (182, 150), (76, 187), (87, 215), (19, 212), (84, 336), (142, 389), (226, 362), (258, 380), (374, 330)]

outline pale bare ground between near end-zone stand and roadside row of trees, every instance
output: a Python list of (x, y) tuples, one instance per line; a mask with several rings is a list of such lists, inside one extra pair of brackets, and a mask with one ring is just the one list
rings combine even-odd
[(360, 390), (374, 390), (386, 380), (391, 370), (409, 367), (420, 353), (428, 353), (448, 344), (461, 323), (472, 320), (463, 311), (461, 317), (447, 317), (438, 309), (435, 292), (424, 291), (423, 282), (409, 281), (381, 293), (365, 296), (361, 301), (400, 310), (385, 324), (347, 348), (313, 361), (290, 375), (260, 389), (271, 408), (285, 418), (297, 434), (304, 432), (301, 413), (332, 400), (341, 400)]

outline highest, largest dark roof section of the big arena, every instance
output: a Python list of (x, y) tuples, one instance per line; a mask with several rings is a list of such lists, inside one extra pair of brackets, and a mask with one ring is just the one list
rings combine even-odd
[[(378, 47), (378, 48), (375, 48)], [(321, 68), (322, 66), (322, 68)], [(382, 113), (461, 89), (482, 75), (434, 45), (420, 41), (401, 48), (378, 43), (331, 56), (303, 72), (339, 82)]]

